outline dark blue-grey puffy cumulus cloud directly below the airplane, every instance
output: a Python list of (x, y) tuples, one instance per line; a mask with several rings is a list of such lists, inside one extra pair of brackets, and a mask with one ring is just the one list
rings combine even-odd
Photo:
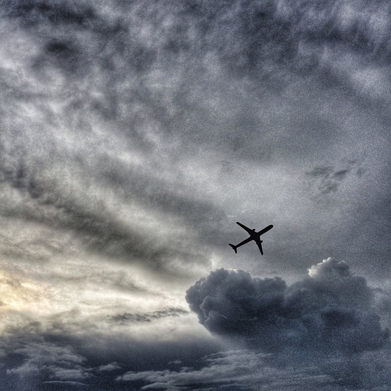
[(199, 322), (212, 333), (242, 337), (266, 351), (295, 348), (352, 354), (389, 343), (375, 308), (374, 289), (333, 258), (287, 286), (279, 277), (252, 278), (219, 269), (186, 294)]

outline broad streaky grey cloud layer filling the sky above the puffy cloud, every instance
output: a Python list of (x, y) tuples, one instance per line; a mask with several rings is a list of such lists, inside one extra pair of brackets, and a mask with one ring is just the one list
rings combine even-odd
[[(3, 2), (2, 216), (171, 275), (228, 253), (236, 218), (271, 221), (287, 243), (271, 264), (294, 258), (292, 241), (303, 262), (291, 273), (327, 251), (359, 265), (369, 246), (381, 278), (387, 10)], [(4, 251), (50, 258), (50, 243), (30, 247)]]

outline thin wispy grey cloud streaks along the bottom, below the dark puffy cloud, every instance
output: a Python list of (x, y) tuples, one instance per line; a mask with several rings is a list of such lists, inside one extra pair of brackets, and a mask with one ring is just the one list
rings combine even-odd
[(203, 358), (199, 369), (181, 368), (179, 371), (130, 371), (117, 377), (118, 382), (136, 384), (140, 389), (165, 390), (340, 390), (334, 379), (310, 367), (278, 368), (267, 357), (248, 351), (221, 352)]

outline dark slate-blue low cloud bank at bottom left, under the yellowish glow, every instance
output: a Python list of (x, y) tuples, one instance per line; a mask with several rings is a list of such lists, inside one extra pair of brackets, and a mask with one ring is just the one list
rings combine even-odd
[[(61, 316), (57, 316), (61, 318)], [(114, 335), (79, 319), (60, 330), (42, 322), (8, 327), (0, 342), (2, 385), (13, 391), (40, 390), (45, 384), (83, 383), (94, 389), (127, 389), (116, 378), (135, 370), (184, 366), (199, 368), (202, 357), (216, 352), (212, 339), (189, 335), (187, 341), (140, 341), (132, 335)], [(4, 352), (4, 353), (3, 353)], [(115, 360), (118, 361), (114, 361)], [(100, 387), (100, 388), (99, 388)], [(48, 388), (54, 389), (54, 388)], [(71, 388), (72, 389), (72, 388)]]

